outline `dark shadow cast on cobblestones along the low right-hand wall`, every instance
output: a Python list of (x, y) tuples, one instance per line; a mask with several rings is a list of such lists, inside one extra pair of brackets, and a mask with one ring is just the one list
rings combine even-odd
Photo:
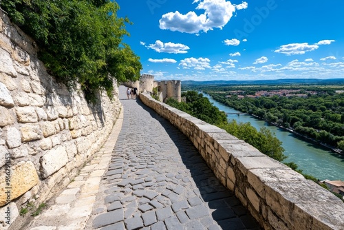
[(182, 162), (190, 170), (200, 196), (208, 203), (210, 209), (213, 209), (211, 214), (213, 220), (222, 229), (261, 229), (233, 192), (224, 187), (215, 177), (193, 143), (169, 121), (144, 105), (140, 99), (137, 103), (164, 127), (175, 146), (178, 147)]

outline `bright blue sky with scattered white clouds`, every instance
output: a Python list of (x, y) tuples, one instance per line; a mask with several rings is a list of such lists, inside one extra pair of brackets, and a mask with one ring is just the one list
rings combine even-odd
[(118, 0), (155, 80), (344, 78), (343, 0)]

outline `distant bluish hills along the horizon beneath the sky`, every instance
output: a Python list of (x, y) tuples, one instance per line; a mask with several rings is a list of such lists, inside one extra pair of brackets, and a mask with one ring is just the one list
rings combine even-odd
[(289, 85), (289, 84), (344, 84), (344, 79), (276, 79), (257, 81), (182, 81), (182, 86), (194, 85)]

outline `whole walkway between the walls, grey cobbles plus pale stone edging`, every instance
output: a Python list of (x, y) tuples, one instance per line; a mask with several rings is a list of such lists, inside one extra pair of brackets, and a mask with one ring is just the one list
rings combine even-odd
[(107, 143), (24, 229), (260, 229), (189, 139), (122, 86), (120, 101)]

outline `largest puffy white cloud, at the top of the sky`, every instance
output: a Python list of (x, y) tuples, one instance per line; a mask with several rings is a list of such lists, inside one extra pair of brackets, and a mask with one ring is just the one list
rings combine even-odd
[(207, 32), (208, 30), (213, 30), (213, 28), (222, 29), (230, 18), (233, 17), (235, 10), (239, 10), (239, 8), (244, 9), (246, 2), (238, 6), (226, 0), (195, 0), (193, 3), (197, 3), (198, 5), (195, 9), (204, 10), (204, 14), (197, 15), (193, 11), (186, 14), (181, 14), (178, 11), (168, 12), (162, 15), (162, 18), (159, 20), (160, 29), (189, 34), (197, 34), (202, 31)]

